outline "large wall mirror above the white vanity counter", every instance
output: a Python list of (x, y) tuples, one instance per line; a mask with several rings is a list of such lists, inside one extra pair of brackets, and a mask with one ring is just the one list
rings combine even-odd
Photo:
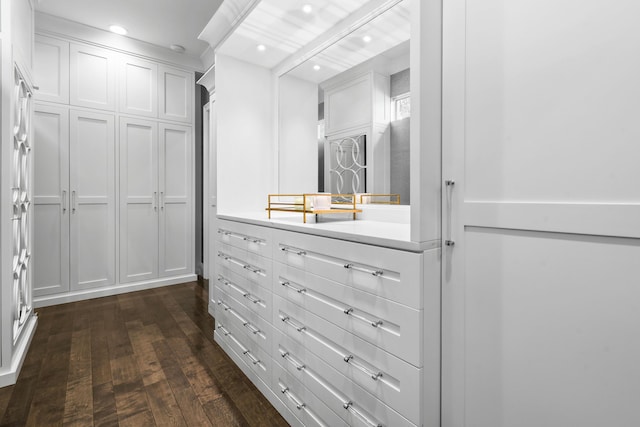
[(279, 77), (280, 193), (410, 203), (410, 1), (365, 16)]

